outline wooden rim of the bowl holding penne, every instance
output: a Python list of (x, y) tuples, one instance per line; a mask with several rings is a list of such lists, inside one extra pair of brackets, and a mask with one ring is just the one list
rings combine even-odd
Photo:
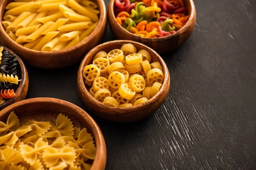
[[(81, 48), (82, 45), (84, 44), (87, 44), (87, 42), (90, 42), (94, 39), (94, 37), (99, 34), (100, 32), (100, 28), (102, 28), (104, 26), (104, 23), (107, 21), (107, 9), (106, 9), (106, 6), (105, 6), (105, 2), (104, 0), (96, 0), (96, 2), (98, 3), (99, 5), (99, 21), (98, 21), (98, 24), (96, 26), (96, 28), (93, 30), (93, 32), (88, 36), (87, 39), (85, 40), (82, 40), (81, 42), (79, 42), (77, 45), (75, 46), (72, 46), (70, 48), (67, 48), (67, 49), (63, 49), (63, 50), (58, 50), (58, 51), (36, 51), (36, 50), (32, 50), (32, 49), (29, 49), (29, 48), (26, 48), (20, 44), (18, 44), (17, 42), (15, 42), (14, 40), (12, 40), (12, 38), (10, 38), (7, 34), (6, 34), (6, 31), (4, 31), (4, 28), (3, 28), (3, 24), (2, 24), (2, 21), (3, 21), (3, 16), (4, 16), (4, 12), (5, 12), (5, 6), (3, 6), (3, 4), (6, 2), (7, 0), (1, 0), (0, 1), (0, 31), (3, 33), (3, 36), (10, 42), (13, 43), (13, 45), (17, 46), (17, 48), (21, 48), (22, 50), (25, 50), (25, 51), (28, 51), (28, 52), (31, 52), (31, 53), (42, 53), (42, 54), (45, 54), (44, 56), (47, 57), (47, 54), (65, 54), (67, 52), (70, 52), (70, 51), (73, 51), (77, 48)], [(12, 0), (13, 1), (13, 0)], [(3, 12), (2, 12), (3, 11)], [(3, 16), (1, 15), (3, 13)]]

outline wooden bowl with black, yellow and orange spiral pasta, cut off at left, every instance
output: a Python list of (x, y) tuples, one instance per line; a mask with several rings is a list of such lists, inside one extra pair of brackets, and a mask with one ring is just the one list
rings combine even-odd
[(25, 99), (29, 76), (23, 61), (0, 45), (0, 110)]

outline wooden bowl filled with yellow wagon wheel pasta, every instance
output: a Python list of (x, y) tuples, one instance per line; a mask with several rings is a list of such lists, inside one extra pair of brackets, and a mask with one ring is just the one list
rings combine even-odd
[(96, 46), (84, 57), (77, 86), (93, 113), (114, 122), (135, 122), (163, 104), (170, 75), (163, 59), (148, 46), (116, 40)]

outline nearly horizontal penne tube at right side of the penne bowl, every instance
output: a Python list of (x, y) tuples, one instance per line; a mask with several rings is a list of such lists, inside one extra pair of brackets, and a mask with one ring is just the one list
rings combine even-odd
[(90, 26), (92, 26), (91, 22), (72, 23), (72, 24), (60, 26), (58, 28), (58, 31), (70, 32), (70, 31), (75, 31), (75, 30), (86, 29), (86, 28), (89, 28)]

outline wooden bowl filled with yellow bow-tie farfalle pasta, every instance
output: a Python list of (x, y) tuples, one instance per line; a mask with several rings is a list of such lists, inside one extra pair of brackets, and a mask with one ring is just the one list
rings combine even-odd
[(0, 111), (3, 170), (104, 170), (106, 145), (96, 122), (76, 105), (34, 98)]

